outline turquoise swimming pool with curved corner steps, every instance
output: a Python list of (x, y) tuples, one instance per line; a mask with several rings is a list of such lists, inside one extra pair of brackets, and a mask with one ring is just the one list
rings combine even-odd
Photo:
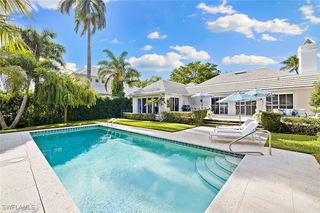
[(239, 161), (101, 126), (31, 136), (81, 212), (204, 212)]

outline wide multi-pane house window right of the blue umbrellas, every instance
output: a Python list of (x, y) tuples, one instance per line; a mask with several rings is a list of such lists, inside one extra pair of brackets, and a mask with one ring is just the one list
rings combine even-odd
[(281, 94), (266, 97), (266, 111), (272, 109), (293, 109), (293, 94)]

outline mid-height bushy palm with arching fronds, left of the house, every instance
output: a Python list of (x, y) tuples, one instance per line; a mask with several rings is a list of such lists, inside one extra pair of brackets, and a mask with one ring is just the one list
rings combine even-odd
[(132, 87), (133, 84), (138, 81), (141, 74), (136, 69), (132, 68), (129, 62), (125, 61), (127, 55), (126, 51), (123, 51), (117, 58), (108, 49), (104, 49), (102, 52), (105, 52), (106, 57), (110, 58), (111, 61), (102, 60), (98, 62), (98, 78), (102, 79), (107, 76), (104, 83), (106, 91), (107, 83), (112, 80), (112, 96), (124, 96), (124, 84)]

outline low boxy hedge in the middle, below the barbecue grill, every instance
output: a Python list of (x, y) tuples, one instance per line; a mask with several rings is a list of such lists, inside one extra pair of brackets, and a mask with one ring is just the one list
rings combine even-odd
[(163, 111), (161, 117), (164, 122), (178, 123), (178, 124), (191, 124), (192, 123), (192, 112), (173, 112)]

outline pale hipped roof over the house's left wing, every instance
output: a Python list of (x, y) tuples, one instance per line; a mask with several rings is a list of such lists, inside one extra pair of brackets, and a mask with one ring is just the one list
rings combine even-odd
[(184, 84), (176, 83), (168, 80), (158, 80), (146, 87), (143, 87), (131, 95), (143, 95), (143, 94), (159, 94), (159, 93), (174, 93), (180, 95), (189, 95), (186, 91)]

